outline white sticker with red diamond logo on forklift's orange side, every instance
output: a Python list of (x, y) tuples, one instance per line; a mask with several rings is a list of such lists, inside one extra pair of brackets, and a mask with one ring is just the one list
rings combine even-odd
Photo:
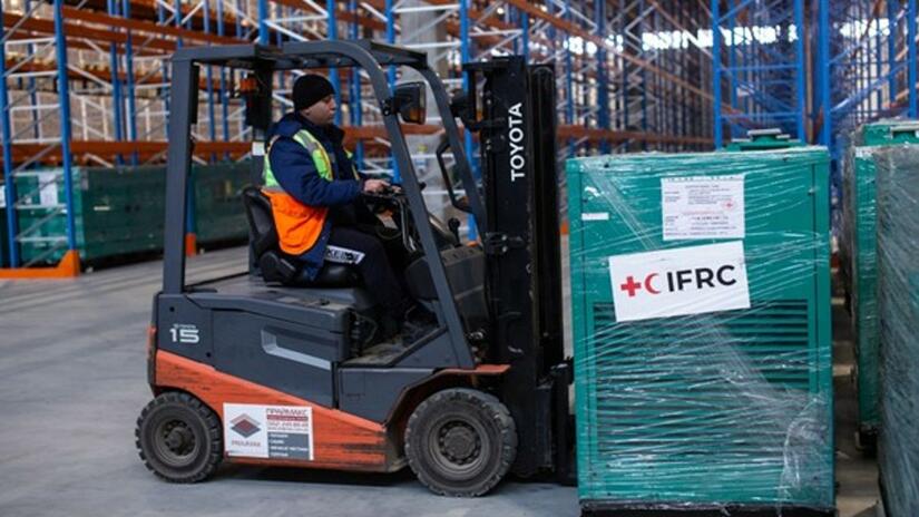
[(228, 456), (313, 460), (313, 409), (305, 406), (224, 404)]

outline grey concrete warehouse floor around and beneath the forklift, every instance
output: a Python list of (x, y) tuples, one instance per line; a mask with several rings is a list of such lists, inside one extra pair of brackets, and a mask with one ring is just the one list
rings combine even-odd
[[(236, 271), (244, 256), (237, 248), (195, 257), (189, 279)], [(158, 262), (68, 281), (0, 281), (0, 516), (578, 514), (574, 488), (509, 480), (489, 497), (448, 499), (408, 470), (229, 466), (202, 485), (159, 481), (134, 445), (135, 419), (150, 399), (144, 350), (159, 282)], [(848, 325), (837, 326), (844, 335)], [(840, 340), (835, 352), (840, 516), (873, 516), (877, 470), (852, 439), (851, 343)]]

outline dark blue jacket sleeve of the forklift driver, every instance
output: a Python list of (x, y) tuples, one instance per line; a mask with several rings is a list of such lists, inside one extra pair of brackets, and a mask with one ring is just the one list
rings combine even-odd
[(344, 205), (361, 193), (361, 182), (323, 179), (306, 149), (292, 138), (282, 137), (272, 144), (268, 159), (281, 188), (304, 205)]

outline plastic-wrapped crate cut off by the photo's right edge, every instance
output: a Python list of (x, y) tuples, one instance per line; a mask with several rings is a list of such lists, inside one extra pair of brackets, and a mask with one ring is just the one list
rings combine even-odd
[(877, 154), (879, 466), (884, 509), (919, 516), (919, 146)]

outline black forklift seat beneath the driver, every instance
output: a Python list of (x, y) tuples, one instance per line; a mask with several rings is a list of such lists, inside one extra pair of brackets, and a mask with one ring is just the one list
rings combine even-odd
[(358, 272), (346, 264), (325, 262), (315, 279), (310, 279), (295, 257), (281, 251), (271, 199), (258, 187), (243, 189), (243, 204), (252, 233), (253, 253), (265, 282), (294, 287), (353, 287), (361, 283)]

